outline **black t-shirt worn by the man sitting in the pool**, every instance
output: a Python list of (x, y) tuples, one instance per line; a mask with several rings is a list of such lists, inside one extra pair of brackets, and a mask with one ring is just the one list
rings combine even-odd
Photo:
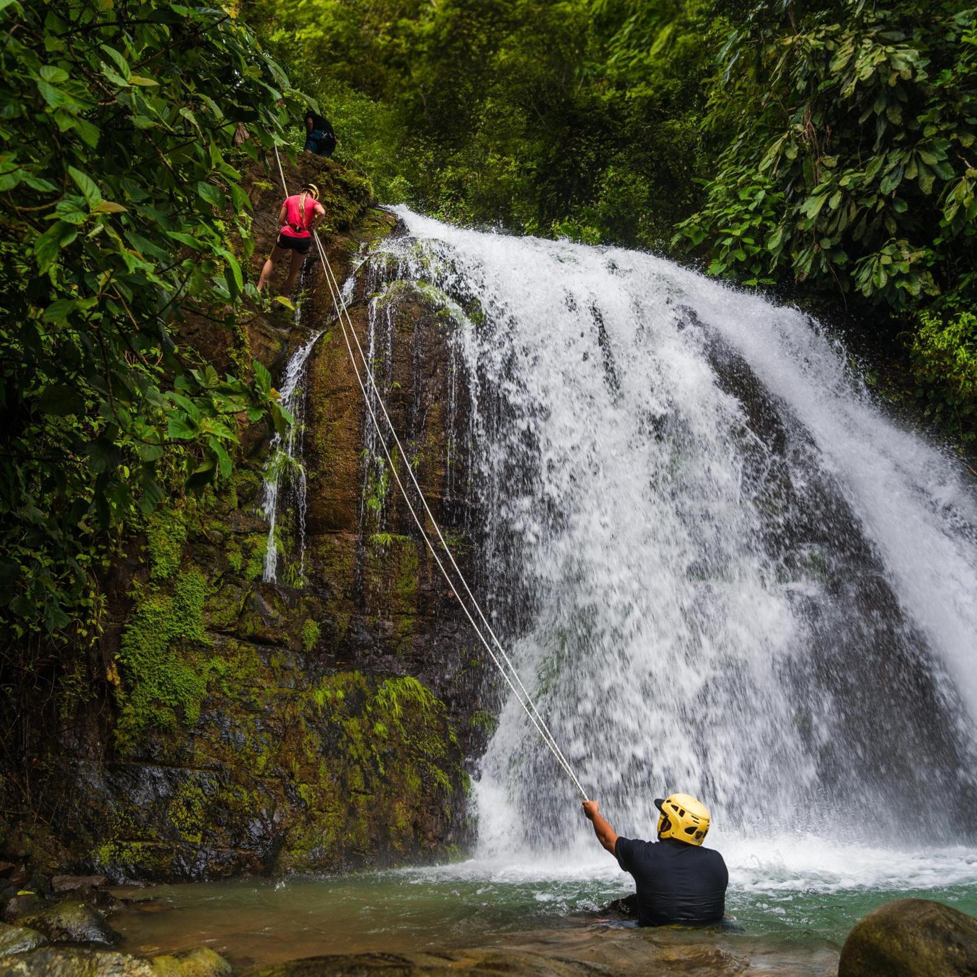
[(719, 852), (673, 838), (618, 837), (614, 853), (617, 864), (634, 876), (643, 926), (712, 922), (726, 912), (729, 872)]

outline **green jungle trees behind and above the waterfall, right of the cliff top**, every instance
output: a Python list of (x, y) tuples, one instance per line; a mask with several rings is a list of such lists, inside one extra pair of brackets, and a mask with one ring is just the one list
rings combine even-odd
[[(977, 424), (965, 0), (272, 0), (340, 159), (449, 220), (664, 250), (847, 308)], [(948, 364), (952, 366), (946, 368)], [(905, 385), (904, 385), (905, 386)]]

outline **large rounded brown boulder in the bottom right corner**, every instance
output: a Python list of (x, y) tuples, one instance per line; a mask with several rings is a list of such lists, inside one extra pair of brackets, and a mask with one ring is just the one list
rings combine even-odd
[(848, 934), (838, 977), (977, 977), (977, 919), (928, 899), (872, 910)]

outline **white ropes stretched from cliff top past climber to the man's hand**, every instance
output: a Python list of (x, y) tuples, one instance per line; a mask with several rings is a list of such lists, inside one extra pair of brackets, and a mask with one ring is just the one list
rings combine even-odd
[[(281, 168), (281, 157), (278, 155), (277, 146), (275, 147), (275, 158), (278, 164), (278, 176), (281, 178), (281, 188), (283, 191), (285, 191), (285, 196), (287, 197), (288, 185), (285, 182), (284, 170)], [(401, 476), (397, 470), (397, 466), (394, 464), (394, 459), (391, 456), (390, 448), (387, 446), (387, 441), (383, 436), (383, 430), (380, 427), (380, 422), (377, 419), (376, 412), (373, 409), (373, 404), (370, 403), (369, 395), (366, 392), (366, 385), (364, 384), (360, 373), (360, 364), (357, 362), (357, 358), (354, 356), (353, 344), (350, 342), (350, 333), (353, 334), (353, 341), (356, 344), (358, 352), (360, 353), (360, 359), (362, 361), (363, 371), (366, 374), (366, 378), (369, 381), (369, 385), (372, 388), (373, 393), (376, 395), (376, 402), (377, 404), (380, 405), (380, 409), (383, 413), (384, 419), (386, 420), (387, 426), (390, 429), (390, 434), (394, 439), (394, 444), (397, 446), (397, 450), (400, 451), (401, 457), (404, 458), (404, 462), (406, 462), (407, 460), (407, 454), (404, 451), (404, 446), (401, 444), (400, 438), (398, 438), (397, 436), (397, 430), (394, 427), (394, 422), (390, 419), (390, 414), (387, 412), (387, 406), (383, 402), (383, 397), (380, 395), (380, 390), (377, 387), (375, 378), (373, 377), (373, 372), (369, 367), (369, 361), (367, 361), (366, 356), (363, 353), (362, 347), (360, 345), (360, 337), (357, 335), (357, 331), (353, 326), (353, 320), (350, 319), (350, 314), (346, 309), (346, 301), (343, 298), (342, 289), (339, 287), (339, 283), (336, 281), (335, 276), (332, 274), (332, 266), (329, 264), (329, 259), (326, 257), (325, 248), (322, 246), (322, 241), (319, 238), (318, 230), (313, 231), (313, 237), (316, 240), (316, 247), (319, 250), (319, 260), (322, 262), (322, 269), (325, 273), (326, 284), (329, 286), (329, 293), (332, 296), (333, 305), (335, 306), (335, 308), (338, 310), (339, 313), (339, 324), (343, 330), (343, 339), (346, 342), (346, 351), (347, 353), (349, 353), (350, 362), (353, 364), (353, 370), (357, 375), (357, 383), (360, 385), (360, 391), (363, 397), (363, 403), (366, 404), (366, 409), (369, 412), (370, 419), (373, 421), (373, 427), (376, 429), (377, 438), (379, 439), (380, 445), (383, 447), (383, 453), (386, 455), (387, 463), (390, 466), (390, 471), (394, 475), (394, 480), (397, 482), (398, 488), (401, 489), (401, 494), (404, 496), (404, 502), (406, 503), (407, 509), (409, 510), (410, 515), (413, 517), (414, 523), (416, 524), (418, 531), (420, 531), (421, 536), (424, 539), (424, 542), (427, 544), (427, 548), (431, 551), (431, 555), (434, 557), (435, 563), (438, 564), (438, 569), (444, 575), (447, 585), (451, 588), (451, 592), (454, 594), (455, 598), (457, 599), (458, 604), (461, 607), (461, 610), (465, 613), (465, 616), (468, 618), (469, 623), (475, 629), (475, 633), (479, 636), (479, 640), (485, 646), (485, 649), (488, 652), (488, 657), (491, 658), (495, 667), (499, 670), (500, 674), (502, 675), (502, 678), (505, 679), (505, 682), (509, 686), (509, 689), (512, 691), (512, 694), (516, 697), (517, 701), (519, 701), (519, 704), (523, 707), (526, 714), (530, 717), (530, 721), (532, 725), (536, 728), (536, 732), (538, 732), (539, 736), (542, 738), (543, 743), (546, 743), (546, 745), (549, 747), (549, 750), (555, 757), (557, 763), (573, 781), (573, 785), (576, 787), (577, 790), (580, 791), (580, 794), (583, 796), (583, 799), (587, 800), (587, 793), (583, 789), (583, 786), (580, 785), (580, 782), (577, 779), (576, 774), (573, 773), (573, 767), (571, 767), (570, 762), (563, 755), (563, 751), (560, 749), (560, 746), (556, 742), (556, 739), (554, 738), (553, 734), (550, 732), (549, 727), (546, 725), (546, 721), (540, 715), (539, 710), (536, 708), (535, 703), (532, 701), (532, 698), (526, 686), (523, 684), (523, 680), (519, 677), (519, 672), (516, 671), (515, 665), (512, 663), (511, 659), (506, 654), (505, 649), (501, 645), (501, 642), (499, 642), (498, 638), (495, 635), (495, 632), (492, 630), (491, 625), (488, 623), (488, 619), (483, 613), (482, 608), (479, 605), (479, 602), (475, 599), (475, 595), (472, 593), (471, 588), (468, 586), (468, 581), (465, 579), (464, 573), (461, 573), (460, 568), (455, 562), (454, 555), (451, 553), (451, 549), (446, 543), (445, 536), (441, 531), (441, 527), (438, 525), (438, 521), (434, 518), (434, 515), (427, 504), (427, 499), (424, 497), (424, 492), (421, 490), (421, 487), (418, 485), (417, 479), (413, 473), (413, 469), (411, 468), (409, 463), (404, 464), (404, 468), (406, 469), (407, 474), (410, 477), (410, 481), (413, 483), (414, 489), (417, 492), (417, 497), (421, 500), (421, 504), (424, 506), (424, 512), (427, 515), (427, 518), (430, 520), (431, 525), (434, 527), (434, 531), (438, 535), (438, 541), (441, 543), (442, 547), (444, 548), (447, 554), (447, 558), (450, 561), (451, 567), (454, 569), (454, 572), (457, 573), (458, 580), (461, 582), (462, 588), (464, 589), (465, 593), (468, 595), (468, 599), (471, 601), (473, 607), (475, 608), (475, 611), (478, 614), (479, 619), (482, 621), (485, 630), (488, 631), (488, 634), (490, 635), (492, 642), (495, 645), (495, 648), (498, 650), (498, 653), (501, 656), (502, 661), (505, 662), (505, 666), (503, 666), (502, 661), (499, 660), (498, 656), (496, 656), (495, 652), (492, 650), (492, 647), (488, 643), (485, 633), (483, 632), (479, 624), (476, 622), (475, 618), (472, 616), (465, 602), (462, 600), (461, 594), (458, 593), (458, 589), (455, 586), (454, 581), (451, 579), (450, 574), (447, 573), (446, 567), (442, 562), (441, 557), (438, 555), (438, 551), (435, 549), (431, 537), (429, 536), (427, 530), (424, 528), (424, 525), (421, 522), (420, 517), (418, 516), (416, 510), (414, 509), (414, 506), (410, 501), (410, 497), (407, 495), (406, 489), (404, 488), (404, 483), (401, 481)], [(346, 318), (345, 321), (343, 320), (344, 316)], [(508, 671), (506, 669), (508, 669)]]

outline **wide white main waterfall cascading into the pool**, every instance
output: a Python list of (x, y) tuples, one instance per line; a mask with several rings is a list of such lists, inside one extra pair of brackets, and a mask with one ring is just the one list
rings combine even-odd
[[(372, 260), (452, 310), (481, 595), (616, 828), (647, 836), (653, 798), (684, 790), (747, 833), (972, 839), (961, 466), (796, 310), (648, 254), (399, 213)], [(582, 838), (514, 701), (478, 790), (483, 849)]]

